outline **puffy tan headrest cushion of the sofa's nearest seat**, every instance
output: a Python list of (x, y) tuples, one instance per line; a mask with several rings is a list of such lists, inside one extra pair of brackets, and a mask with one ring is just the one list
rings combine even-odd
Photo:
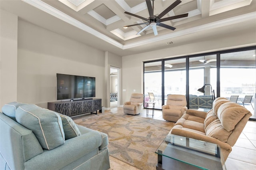
[(223, 103), (219, 109), (217, 116), (224, 129), (231, 131), (235, 128), (236, 124), (249, 113), (246, 108), (233, 102)]

